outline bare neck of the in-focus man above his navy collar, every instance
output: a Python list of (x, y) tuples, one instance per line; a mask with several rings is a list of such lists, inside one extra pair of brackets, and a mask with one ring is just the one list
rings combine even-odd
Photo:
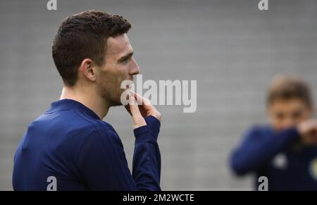
[(108, 103), (102, 99), (97, 92), (87, 89), (76, 89), (64, 86), (60, 99), (73, 99), (80, 102), (94, 111), (101, 120), (106, 116), (110, 108)]

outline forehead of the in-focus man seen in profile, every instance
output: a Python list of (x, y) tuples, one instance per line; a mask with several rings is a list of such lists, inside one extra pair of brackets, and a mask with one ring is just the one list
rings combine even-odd
[(127, 54), (132, 51), (132, 46), (126, 34), (117, 37), (108, 37), (107, 54)]

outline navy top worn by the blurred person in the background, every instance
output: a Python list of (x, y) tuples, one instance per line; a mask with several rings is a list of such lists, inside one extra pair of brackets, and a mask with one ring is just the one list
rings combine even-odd
[(317, 147), (303, 147), (295, 128), (273, 131), (256, 126), (233, 151), (230, 166), (237, 175), (268, 178), (268, 190), (317, 190)]

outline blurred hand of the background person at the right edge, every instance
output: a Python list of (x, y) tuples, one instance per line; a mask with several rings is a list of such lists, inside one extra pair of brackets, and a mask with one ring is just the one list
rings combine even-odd
[(297, 127), (306, 145), (317, 145), (317, 120), (306, 120)]

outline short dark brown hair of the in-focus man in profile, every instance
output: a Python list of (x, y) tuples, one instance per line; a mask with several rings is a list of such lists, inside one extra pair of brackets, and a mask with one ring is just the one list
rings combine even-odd
[(130, 27), (122, 16), (101, 11), (84, 11), (65, 18), (52, 45), (54, 63), (65, 85), (75, 85), (78, 67), (85, 58), (102, 66), (108, 37), (123, 35)]

